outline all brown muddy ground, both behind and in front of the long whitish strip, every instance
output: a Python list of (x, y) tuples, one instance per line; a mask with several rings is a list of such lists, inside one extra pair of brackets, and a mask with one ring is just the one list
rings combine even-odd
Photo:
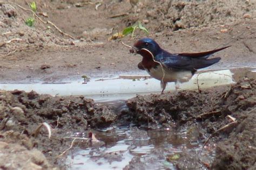
[[(25, 25), (32, 12), (14, 3), (29, 9), (26, 1), (8, 2), (11, 3), (0, 3), (1, 83), (54, 82), (79, 79), (82, 75), (137, 73), (141, 58), (131, 55), (119, 39), (107, 39), (117, 30), (139, 21), (150, 34), (138, 31), (135, 37), (122, 39), (126, 44), (132, 45), (147, 36), (173, 53), (232, 45), (217, 54), (221, 61), (215, 68), (255, 67), (255, 1), (36, 1), (38, 16), (50, 20), (74, 39), (63, 36), (38, 18), (35, 26)], [(97, 2), (100, 6), (96, 10)], [(42, 12), (48, 18), (39, 14)], [(12, 39), (18, 40), (8, 42)], [(71, 145), (72, 139), (67, 136), (113, 125), (133, 123), (153, 129), (159, 126), (189, 129), (197, 125), (202, 129), (203, 143), (219, 128), (231, 123), (227, 117), (231, 115), (237, 123), (210, 139), (207, 145), (217, 144), (217, 155), (212, 165), (203, 166), (255, 169), (255, 86), (255, 80), (241, 79), (233, 86), (201, 93), (179, 91), (176, 95), (137, 96), (126, 102), (127, 108), (118, 111), (83, 96), (0, 91), (0, 154), (4, 158), (0, 159), (0, 168), (64, 168), (65, 155), (58, 155)], [(43, 122), (52, 128), (50, 139), (45, 130), (37, 137), (33, 134)], [(83, 145), (87, 147), (90, 143)], [(185, 163), (189, 158), (184, 155), (182, 159), (177, 168), (189, 166)], [(128, 168), (133, 168), (132, 162)]]

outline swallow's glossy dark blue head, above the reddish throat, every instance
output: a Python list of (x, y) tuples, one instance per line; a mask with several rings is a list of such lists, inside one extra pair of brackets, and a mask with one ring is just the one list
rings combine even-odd
[(156, 56), (161, 51), (161, 48), (157, 42), (151, 38), (143, 38), (138, 40), (135, 42), (134, 47), (137, 48), (138, 54), (140, 54), (140, 49), (142, 48), (149, 50), (154, 56)]

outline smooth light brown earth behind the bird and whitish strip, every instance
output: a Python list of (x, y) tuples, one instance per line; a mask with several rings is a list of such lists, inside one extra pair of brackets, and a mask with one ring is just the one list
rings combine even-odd
[[(29, 7), (25, 2), (11, 2)], [(42, 19), (50, 20), (77, 40), (61, 36), (52, 25), (39, 19), (35, 27), (26, 26), (24, 20), (32, 16), (30, 11), (2, 4), (0, 32), (6, 33), (1, 35), (2, 41), (22, 40), (0, 48), (1, 82), (49, 82), (79, 79), (82, 75), (102, 77), (138, 72), (141, 58), (132, 56), (119, 40), (107, 38), (143, 19), (147, 19), (144, 25), (150, 34), (136, 31), (136, 37), (123, 38), (126, 44), (132, 45), (136, 39), (147, 36), (173, 53), (232, 45), (217, 54), (222, 60), (213, 67), (255, 66), (255, 1), (140, 1), (133, 7), (127, 1), (104, 1), (98, 10), (95, 2), (37, 1), (38, 13), (47, 12), (49, 16), (39, 15)], [(12, 9), (16, 17), (4, 15), (6, 8)], [(126, 12), (129, 15), (110, 18)]]

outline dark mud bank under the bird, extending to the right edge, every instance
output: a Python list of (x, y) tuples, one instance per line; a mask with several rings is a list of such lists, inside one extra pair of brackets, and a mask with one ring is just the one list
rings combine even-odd
[[(201, 129), (197, 134), (201, 142), (212, 135), (207, 146), (216, 149), (213, 169), (255, 168), (255, 80), (238, 82), (230, 87), (198, 91), (180, 91), (177, 95), (137, 96), (126, 102), (129, 121), (148, 128), (172, 127), (175, 129)], [(235, 118), (228, 118), (228, 115)], [(231, 123), (232, 122), (232, 123)], [(230, 124), (218, 133), (215, 131)], [(214, 145), (217, 145), (215, 148)], [(198, 168), (191, 165), (188, 155), (177, 168)], [(182, 159), (182, 158), (181, 158)], [(203, 164), (198, 161), (198, 164)], [(207, 166), (206, 166), (207, 167)]]

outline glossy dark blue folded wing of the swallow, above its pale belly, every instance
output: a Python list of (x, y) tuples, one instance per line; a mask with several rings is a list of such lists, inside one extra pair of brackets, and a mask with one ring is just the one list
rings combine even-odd
[(155, 60), (161, 62), (165, 67), (169, 69), (185, 69), (195, 70), (213, 65), (218, 62), (220, 58), (213, 59), (197, 59), (188, 56), (179, 56), (177, 54), (157, 55)]

